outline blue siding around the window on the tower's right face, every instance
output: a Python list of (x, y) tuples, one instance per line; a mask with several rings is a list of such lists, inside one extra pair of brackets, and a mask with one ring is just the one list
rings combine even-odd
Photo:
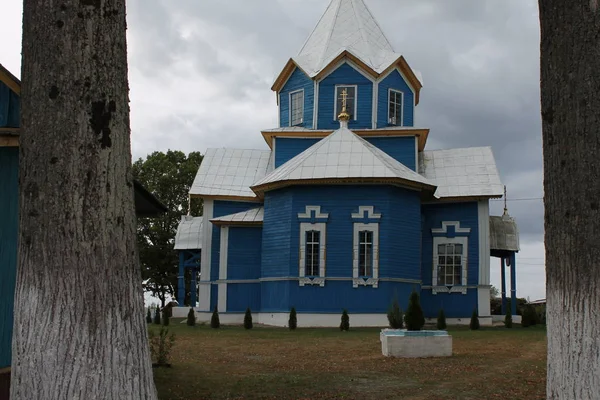
[(394, 89), (404, 93), (403, 126), (413, 126), (414, 121), (414, 95), (408, 84), (398, 70), (391, 72), (384, 80), (379, 82), (377, 99), (377, 128), (385, 128), (388, 124), (389, 90)]

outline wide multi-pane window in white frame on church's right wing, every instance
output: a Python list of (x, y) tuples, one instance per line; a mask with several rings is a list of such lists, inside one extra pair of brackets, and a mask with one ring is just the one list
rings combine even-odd
[(467, 294), (468, 245), (469, 238), (465, 236), (433, 238), (433, 294)]

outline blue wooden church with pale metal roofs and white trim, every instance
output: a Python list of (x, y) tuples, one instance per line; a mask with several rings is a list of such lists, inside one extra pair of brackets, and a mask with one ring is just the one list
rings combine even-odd
[(179, 227), (179, 286), (199, 272), (201, 319), (250, 307), (285, 326), (295, 307), (301, 326), (337, 326), (347, 309), (353, 326), (382, 326), (416, 290), (427, 317), (477, 309), (491, 324), (489, 200), (503, 185), (489, 147), (425, 150), (422, 82), (363, 0), (331, 1), (272, 87), (270, 149), (208, 149), (190, 189), (204, 215)]

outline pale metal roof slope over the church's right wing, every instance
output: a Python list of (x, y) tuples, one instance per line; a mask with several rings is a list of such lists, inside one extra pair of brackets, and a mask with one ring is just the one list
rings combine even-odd
[(423, 151), (419, 153), (419, 172), (438, 187), (438, 198), (504, 194), (490, 147)]

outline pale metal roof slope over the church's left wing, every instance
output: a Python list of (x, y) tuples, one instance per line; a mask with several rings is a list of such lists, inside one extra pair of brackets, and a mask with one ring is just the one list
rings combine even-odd
[(208, 149), (190, 194), (255, 197), (250, 186), (270, 166), (270, 150)]

